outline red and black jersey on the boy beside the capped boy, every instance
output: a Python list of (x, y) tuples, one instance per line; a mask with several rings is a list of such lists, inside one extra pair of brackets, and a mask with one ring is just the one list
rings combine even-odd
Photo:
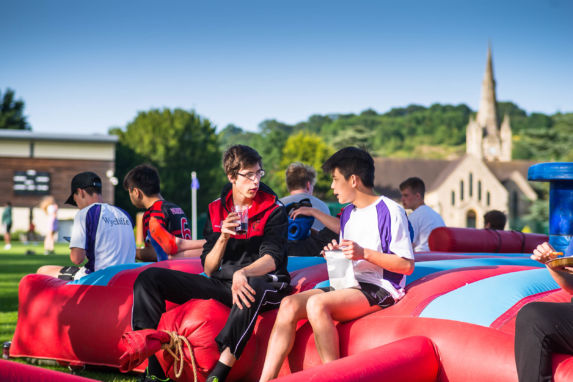
[[(183, 239), (191, 239), (189, 220), (183, 209), (166, 200), (157, 200), (143, 214), (143, 235), (147, 238), (149, 219), (154, 217), (172, 235)], [(146, 245), (148, 245), (146, 241)]]

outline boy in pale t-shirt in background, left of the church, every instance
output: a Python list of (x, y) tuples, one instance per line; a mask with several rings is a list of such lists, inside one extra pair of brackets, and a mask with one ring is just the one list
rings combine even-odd
[(426, 186), (417, 177), (408, 178), (400, 184), (402, 204), (405, 209), (412, 210), (408, 220), (414, 229), (412, 245), (414, 251), (429, 251), (428, 237), (434, 228), (445, 226), (444, 220), (436, 211), (424, 203)]

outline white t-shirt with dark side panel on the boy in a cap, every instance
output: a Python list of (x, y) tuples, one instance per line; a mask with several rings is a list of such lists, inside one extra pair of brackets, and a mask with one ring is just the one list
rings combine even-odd
[(135, 262), (135, 237), (131, 218), (122, 209), (93, 203), (74, 218), (70, 248), (86, 250), (89, 272)]

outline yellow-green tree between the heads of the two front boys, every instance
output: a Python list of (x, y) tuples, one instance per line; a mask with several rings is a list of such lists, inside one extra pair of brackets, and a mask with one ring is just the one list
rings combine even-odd
[[(325, 174), (322, 164), (334, 154), (334, 149), (327, 145), (318, 135), (299, 132), (288, 138), (283, 148), (282, 161), (279, 174), (282, 174), (281, 195), (287, 194), (284, 174), (286, 168), (292, 162), (302, 162), (314, 167), (317, 174), (317, 182), (314, 194), (321, 199), (331, 198), (330, 174)], [(278, 192), (278, 191), (277, 191)]]

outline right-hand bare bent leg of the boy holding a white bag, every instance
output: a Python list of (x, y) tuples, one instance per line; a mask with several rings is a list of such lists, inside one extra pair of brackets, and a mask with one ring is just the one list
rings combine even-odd
[(309, 298), (306, 311), (322, 363), (340, 358), (338, 330), (334, 320), (349, 321), (377, 310), (380, 307), (370, 306), (358, 289), (341, 289)]

